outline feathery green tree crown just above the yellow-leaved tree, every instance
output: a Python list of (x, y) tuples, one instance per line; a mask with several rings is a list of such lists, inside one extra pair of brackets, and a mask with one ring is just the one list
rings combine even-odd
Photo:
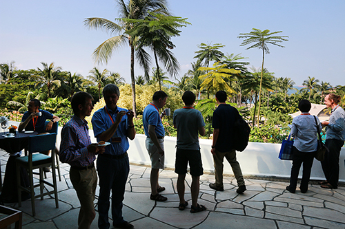
[(195, 52), (197, 55), (194, 58), (202, 63), (204, 61), (204, 65), (208, 67), (210, 61), (220, 61), (221, 57), (224, 56), (224, 53), (219, 51), (219, 48), (224, 47), (225, 45), (221, 45), (220, 43), (216, 43), (212, 45), (206, 45), (205, 43), (201, 43), (197, 45), (199, 47), (199, 51)]

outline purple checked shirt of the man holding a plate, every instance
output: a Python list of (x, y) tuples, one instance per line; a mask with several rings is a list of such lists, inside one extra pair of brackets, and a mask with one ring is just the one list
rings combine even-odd
[(95, 153), (86, 148), (91, 144), (88, 122), (73, 116), (61, 131), (60, 161), (70, 166), (88, 166), (95, 161)]

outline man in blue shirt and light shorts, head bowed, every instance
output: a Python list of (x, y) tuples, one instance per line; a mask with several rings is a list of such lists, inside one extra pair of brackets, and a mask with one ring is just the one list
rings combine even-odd
[(164, 135), (165, 130), (161, 118), (165, 111), (159, 115), (159, 109), (166, 105), (168, 95), (164, 91), (156, 91), (152, 96), (152, 102), (147, 105), (143, 113), (143, 124), (146, 135), (146, 149), (151, 159), (150, 199), (155, 201), (166, 201), (168, 198), (159, 194), (166, 188), (159, 186), (159, 168), (164, 168)]

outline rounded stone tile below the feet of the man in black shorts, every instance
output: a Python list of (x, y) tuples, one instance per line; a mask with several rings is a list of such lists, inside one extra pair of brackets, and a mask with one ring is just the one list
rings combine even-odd
[(177, 210), (177, 208), (155, 208), (150, 213), (150, 217), (177, 228), (192, 228), (204, 221), (208, 213), (209, 211), (205, 210), (191, 215), (190, 212), (186, 210)]

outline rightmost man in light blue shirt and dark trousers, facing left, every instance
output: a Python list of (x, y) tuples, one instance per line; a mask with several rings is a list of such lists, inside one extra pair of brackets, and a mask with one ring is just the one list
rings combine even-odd
[(332, 113), (329, 121), (322, 122), (327, 127), (325, 144), (329, 149), (321, 162), (326, 177), (326, 181), (321, 182), (322, 188), (338, 188), (339, 155), (345, 140), (345, 111), (339, 106), (340, 99), (335, 94), (328, 94), (324, 98), (324, 104), (331, 107)]

